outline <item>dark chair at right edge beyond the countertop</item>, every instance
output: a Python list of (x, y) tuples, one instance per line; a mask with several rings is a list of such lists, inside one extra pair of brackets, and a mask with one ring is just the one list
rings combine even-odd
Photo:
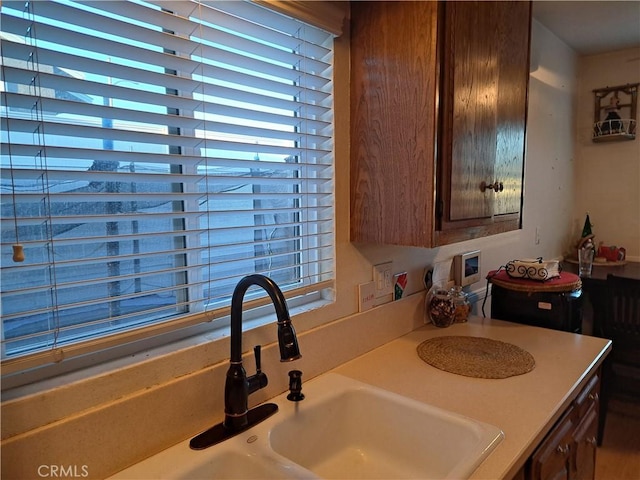
[(602, 373), (601, 408), (606, 412), (612, 398), (640, 402), (640, 280), (607, 275), (602, 334), (612, 341)]

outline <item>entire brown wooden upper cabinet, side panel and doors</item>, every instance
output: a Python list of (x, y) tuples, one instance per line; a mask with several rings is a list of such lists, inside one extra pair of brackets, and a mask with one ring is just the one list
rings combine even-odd
[(519, 228), (530, 3), (351, 8), (351, 240)]

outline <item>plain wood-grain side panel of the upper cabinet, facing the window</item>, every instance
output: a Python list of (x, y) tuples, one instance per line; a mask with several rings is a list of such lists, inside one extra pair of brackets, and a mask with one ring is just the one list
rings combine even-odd
[(433, 241), (435, 2), (351, 4), (351, 240)]

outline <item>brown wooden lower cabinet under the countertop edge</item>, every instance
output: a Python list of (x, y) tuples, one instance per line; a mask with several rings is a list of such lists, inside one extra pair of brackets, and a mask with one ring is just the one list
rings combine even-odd
[(524, 468), (527, 480), (595, 478), (600, 370), (540, 443)]

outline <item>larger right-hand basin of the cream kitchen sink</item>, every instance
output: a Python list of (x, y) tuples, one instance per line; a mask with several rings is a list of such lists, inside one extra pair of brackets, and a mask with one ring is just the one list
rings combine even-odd
[(321, 478), (466, 478), (500, 429), (336, 374), (313, 383), (269, 435), (273, 450)]

